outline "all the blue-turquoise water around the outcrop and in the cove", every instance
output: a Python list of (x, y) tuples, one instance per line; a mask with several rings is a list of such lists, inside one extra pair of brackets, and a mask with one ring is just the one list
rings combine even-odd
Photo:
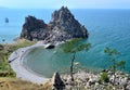
[[(4, 37), (11, 41), (12, 38), (18, 36), (24, 16), (28, 14), (43, 18), (48, 23), (53, 10), (26, 10), (25, 12), (21, 12), (20, 16), (17, 15), (20, 11), (14, 12), (16, 14), (13, 13), (12, 15), (15, 15), (13, 17), (15, 21), (12, 18), (12, 15), (9, 16), (13, 22), (11, 23), (10, 21), (9, 23), (11, 27), (4, 24), (4, 22), (0, 25), (0, 39)], [(120, 52), (117, 60), (126, 60), (126, 70), (130, 73), (130, 10), (72, 10), (72, 12), (89, 30), (89, 38), (83, 40), (83, 42), (92, 43), (89, 52), (82, 51), (77, 53), (76, 61), (89, 69), (108, 68), (110, 62), (103, 50), (105, 47), (110, 47)], [(1, 20), (4, 21), (4, 17), (5, 15), (0, 15), (0, 22)], [(70, 57), (72, 55), (64, 53), (61, 47), (54, 50), (38, 48), (28, 53), (24, 64), (34, 72), (50, 77), (55, 70), (67, 72), (70, 65)]]

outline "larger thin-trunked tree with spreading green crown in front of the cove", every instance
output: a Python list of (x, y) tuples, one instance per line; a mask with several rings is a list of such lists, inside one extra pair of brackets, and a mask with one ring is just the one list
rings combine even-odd
[(64, 51), (66, 53), (72, 53), (73, 54), (73, 59), (72, 59), (72, 63), (70, 63), (70, 78), (72, 78), (72, 81), (74, 81), (73, 72), (74, 72), (74, 62), (76, 60), (76, 53), (79, 52), (79, 51), (82, 51), (82, 50), (88, 51), (90, 49), (90, 47), (91, 47), (91, 43), (79, 44), (78, 42), (81, 39), (73, 39), (72, 41), (68, 41), (65, 44), (65, 48), (64, 48)]

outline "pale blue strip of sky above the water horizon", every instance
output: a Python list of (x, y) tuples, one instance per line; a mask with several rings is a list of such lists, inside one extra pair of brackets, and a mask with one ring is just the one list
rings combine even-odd
[(130, 9), (130, 0), (0, 0), (0, 8), (13, 9)]

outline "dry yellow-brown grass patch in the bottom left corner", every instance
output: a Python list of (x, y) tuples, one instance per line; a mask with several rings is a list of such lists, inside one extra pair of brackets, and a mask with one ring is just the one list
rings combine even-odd
[(46, 90), (42, 85), (15, 78), (0, 78), (0, 90)]

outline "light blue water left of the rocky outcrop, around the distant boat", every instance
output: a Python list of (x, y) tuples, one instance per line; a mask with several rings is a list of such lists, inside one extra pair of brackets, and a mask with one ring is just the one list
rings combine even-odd
[[(22, 31), (25, 17), (28, 15), (44, 20), (48, 23), (51, 18), (53, 10), (20, 10), (20, 9), (0, 9), (0, 43), (13, 42)], [(5, 23), (5, 17), (9, 23)], [(5, 39), (5, 41), (2, 41)]]

